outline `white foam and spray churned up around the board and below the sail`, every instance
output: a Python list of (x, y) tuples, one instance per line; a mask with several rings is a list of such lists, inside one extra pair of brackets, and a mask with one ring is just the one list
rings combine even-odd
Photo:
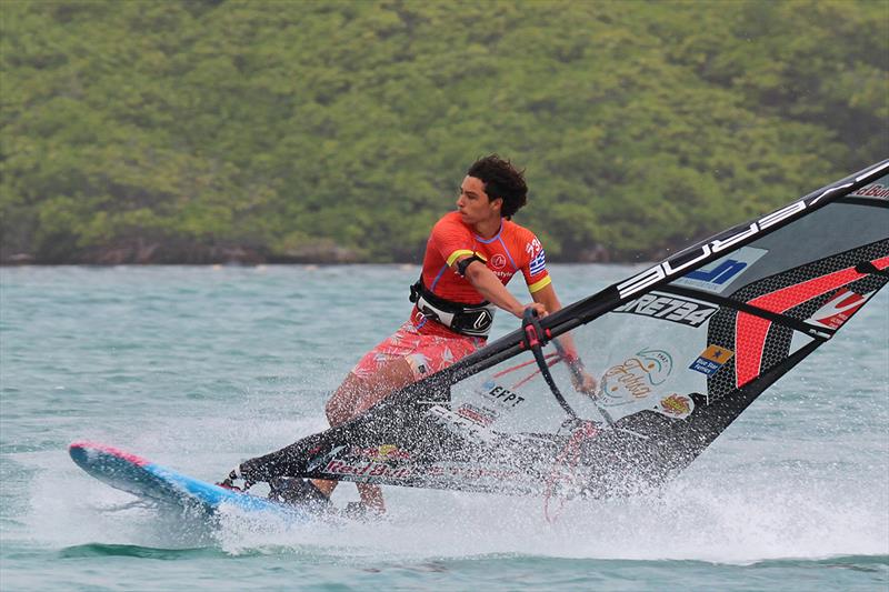
[[(249, 424), (241, 425), (231, 442), (217, 442), (188, 459), (182, 450), (193, 443), (169, 438), (173, 430), (162, 445), (141, 434), (133, 449), (211, 479), (207, 466), (228, 466), (238, 460), (220, 462), (226, 455), (216, 449), (233, 442), (260, 448), (266, 439), (310, 433), (319, 423), (320, 418), (279, 422), (264, 425), (261, 437)], [(202, 427), (223, 428), (232, 427)], [(743, 442), (727, 448), (731, 444)], [(816, 452), (806, 448), (802, 454)], [(289, 550), (359, 563), (536, 555), (742, 564), (889, 553), (889, 499), (879, 473), (825, 479), (800, 463), (768, 461), (758, 461), (758, 470), (748, 471), (720, 466), (733, 459), (731, 450), (726, 452), (708, 452), (657, 494), (570, 500), (553, 523), (546, 520), (543, 501), (537, 498), (390, 488), (390, 513), (381, 522), (281, 524), (229, 511), (218, 525), (208, 525), (193, 516), (164, 519), (153, 509), (132, 504), (130, 495), (83, 475), (63, 452), (21, 454), (17, 460), (37, 469), (27, 492), (31, 505), (27, 530), (33, 542), (51, 546), (93, 541), (157, 548), (218, 544), (233, 555)], [(342, 505), (352, 499), (354, 486), (342, 484), (336, 502)]]

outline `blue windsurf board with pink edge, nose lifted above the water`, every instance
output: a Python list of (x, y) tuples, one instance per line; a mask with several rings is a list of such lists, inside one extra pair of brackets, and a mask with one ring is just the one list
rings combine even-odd
[(68, 452), (78, 466), (99, 481), (157, 504), (208, 514), (229, 505), (249, 512), (273, 513), (288, 521), (310, 518), (298, 508), (220, 488), (112, 446), (74, 442)]

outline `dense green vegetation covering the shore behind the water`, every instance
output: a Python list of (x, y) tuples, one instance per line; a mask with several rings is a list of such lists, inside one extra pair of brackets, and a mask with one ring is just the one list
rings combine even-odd
[(889, 153), (881, 0), (0, 16), (7, 262), (419, 261), (489, 152), (551, 260), (651, 258)]

